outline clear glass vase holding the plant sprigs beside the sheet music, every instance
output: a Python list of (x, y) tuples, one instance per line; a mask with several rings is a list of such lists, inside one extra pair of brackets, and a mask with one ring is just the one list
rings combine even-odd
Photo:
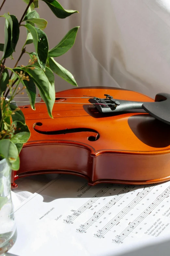
[(11, 200), (11, 170), (5, 159), (0, 161), (0, 256), (14, 245), (17, 229)]

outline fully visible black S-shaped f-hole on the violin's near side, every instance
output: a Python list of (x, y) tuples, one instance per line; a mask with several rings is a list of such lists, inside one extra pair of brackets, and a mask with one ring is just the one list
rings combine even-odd
[(98, 133), (98, 131), (91, 129), (91, 128), (72, 128), (72, 129), (63, 129), (63, 130), (54, 130), (54, 131), (41, 131), (39, 129), (37, 129), (37, 126), (42, 126), (43, 124), (41, 122), (37, 122), (33, 125), (33, 129), (40, 133), (40, 134), (44, 134), (44, 135), (59, 135), (59, 134), (67, 134), (67, 133), (76, 133), (76, 132), (94, 132), (95, 135), (94, 136), (87, 136), (87, 139), (89, 141), (96, 141), (99, 139), (100, 135)]

